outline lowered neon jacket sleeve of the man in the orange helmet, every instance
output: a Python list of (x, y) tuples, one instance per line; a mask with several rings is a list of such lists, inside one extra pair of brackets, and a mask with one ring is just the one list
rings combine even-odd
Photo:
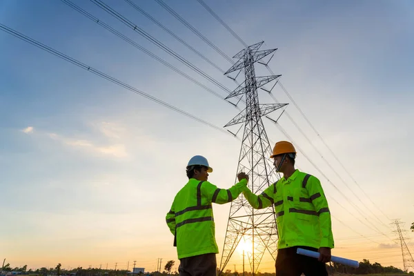
[(321, 226), (321, 244), (320, 247), (334, 247), (331, 212), (329, 211), (328, 201), (326, 200), (321, 182), (316, 177), (311, 176), (306, 184), (306, 189), (311, 197), (312, 204), (319, 215)]

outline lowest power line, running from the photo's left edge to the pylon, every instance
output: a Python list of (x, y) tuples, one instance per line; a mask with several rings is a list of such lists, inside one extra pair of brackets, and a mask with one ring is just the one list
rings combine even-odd
[[(175, 112), (179, 112), (181, 115), (184, 115), (186, 117), (189, 117), (191, 119), (194, 119), (195, 121), (199, 121), (201, 124), (204, 124), (206, 126), (210, 126), (211, 128), (215, 128), (216, 130), (219, 130), (221, 132), (224, 132), (228, 135), (230, 135), (230, 133), (226, 130), (224, 130), (223, 128), (220, 128), (218, 126), (215, 126), (213, 124), (210, 124), (208, 121), (204, 121), (203, 119), (200, 119), (198, 117), (195, 117), (194, 115), (191, 115), (190, 113), (181, 110), (175, 106), (172, 106), (170, 103), (166, 103), (165, 101), (161, 101), (160, 99), (157, 99), (156, 97), (153, 97), (151, 95), (148, 95), (146, 92), (143, 92), (141, 90), (138, 90), (137, 88), (134, 88), (130, 85), (128, 85), (127, 83), (124, 83), (122, 81), (119, 81), (118, 79), (115, 79), (114, 77), (111, 77), (110, 75), (106, 75), (103, 72), (100, 72), (99, 70), (96, 70), (95, 68), (92, 68), (88, 65), (86, 65), (85, 63), (81, 63), (81, 61), (77, 61), (76, 59), (73, 59), (72, 57), (69, 57), (68, 55), (65, 55), (53, 48), (50, 48), (49, 46), (44, 45), (43, 43), (40, 43), (38, 41), (35, 41), (34, 39), (31, 39), (30, 37), (27, 37), (24, 34), (21, 34), (20, 32), (17, 32), (16, 30), (13, 30), (12, 28), (9, 28), (8, 26), (5, 26), (3, 24), (0, 23), (0, 29), (3, 30), (4, 32), (7, 32), (8, 34), (12, 34), (12, 36), (17, 37), (23, 41), (26, 41), (38, 48), (41, 48), (42, 50), (45, 50), (46, 52), (49, 52), (52, 55), (55, 55), (63, 60), (69, 61), (72, 64), (75, 64), (76, 66), (79, 66), (80, 68), (83, 68), (89, 72), (94, 73), (95, 75), (98, 75), (99, 77), (102, 77), (103, 79), (107, 79), (108, 81), (111, 81), (112, 83), (115, 83), (119, 86), (122, 86), (132, 92), (135, 92), (135, 94), (137, 95), (141, 95), (142, 97), (146, 97), (147, 99), (150, 99), (151, 101), (155, 101), (156, 103), (161, 104), (161, 106), (165, 106), (166, 108), (169, 108), (171, 110), (174, 110)], [(235, 137), (234, 135), (232, 135), (233, 137)]]

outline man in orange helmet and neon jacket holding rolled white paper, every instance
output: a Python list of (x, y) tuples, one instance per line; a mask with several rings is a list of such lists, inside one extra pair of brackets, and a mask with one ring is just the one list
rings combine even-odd
[[(244, 197), (256, 209), (275, 205), (279, 241), (277, 276), (327, 276), (331, 261), (333, 233), (328, 201), (319, 179), (295, 169), (296, 150), (288, 141), (273, 148), (273, 165), (283, 177), (261, 195), (244, 189)], [(297, 248), (318, 251), (319, 259), (298, 255)]]

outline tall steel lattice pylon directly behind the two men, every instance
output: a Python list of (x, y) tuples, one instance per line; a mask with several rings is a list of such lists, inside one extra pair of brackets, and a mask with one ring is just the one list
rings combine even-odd
[[(262, 44), (263, 42), (256, 43), (237, 53), (233, 58), (238, 58), (239, 61), (225, 73), (227, 75), (230, 72), (244, 70), (244, 83), (231, 92), (226, 99), (244, 96), (246, 108), (225, 127), (244, 124), (237, 172), (244, 171), (248, 173), (250, 178), (248, 186), (255, 194), (262, 193), (275, 181), (275, 168), (273, 161), (270, 160), (272, 148), (269, 145), (262, 117), (287, 104), (259, 104), (257, 88), (270, 81), (277, 81), (281, 76), (255, 76), (254, 63), (277, 50), (259, 50)], [(255, 275), (266, 250), (273, 259), (276, 257), (278, 235), (273, 206), (255, 210), (243, 196), (238, 197), (231, 203), (223, 255), (221, 256), (221, 272), (226, 268), (242, 238), (244, 242), (250, 244), (251, 249), (247, 250), (246, 253), (251, 271)]]

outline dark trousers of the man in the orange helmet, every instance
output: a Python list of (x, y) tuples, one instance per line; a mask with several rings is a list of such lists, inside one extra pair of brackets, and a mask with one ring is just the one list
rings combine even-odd
[(317, 251), (317, 248), (308, 246), (293, 246), (277, 250), (276, 276), (328, 276), (326, 266), (313, 257), (299, 255), (297, 248)]

